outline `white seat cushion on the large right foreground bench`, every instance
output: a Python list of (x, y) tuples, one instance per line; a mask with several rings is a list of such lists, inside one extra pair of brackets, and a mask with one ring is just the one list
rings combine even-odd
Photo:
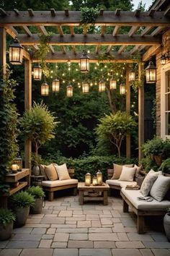
[(122, 188), (121, 192), (138, 210), (166, 210), (170, 207), (170, 201), (168, 200), (161, 202), (154, 199), (151, 202), (138, 200), (137, 197), (141, 197), (140, 190), (126, 190)]

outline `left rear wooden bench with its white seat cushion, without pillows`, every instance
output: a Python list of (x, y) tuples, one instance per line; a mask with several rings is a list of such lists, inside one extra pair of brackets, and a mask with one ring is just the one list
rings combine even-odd
[[(73, 181), (73, 176), (74, 176), (74, 169), (68, 169), (68, 173)], [(67, 180), (68, 183), (69, 183), (69, 180)], [(71, 182), (72, 182), (71, 181)], [(77, 195), (77, 184), (78, 184), (78, 181), (76, 182), (76, 179), (74, 179), (75, 183), (74, 184), (66, 184), (66, 185), (63, 185), (62, 183), (64, 182), (63, 181), (59, 181), (57, 180), (58, 183), (61, 183), (61, 185), (59, 184), (58, 186), (56, 187), (47, 187), (45, 186), (45, 182), (46, 181), (43, 181), (42, 182), (42, 188), (43, 190), (47, 191), (48, 192), (48, 200), (49, 201), (53, 201), (53, 198), (54, 198), (54, 192), (55, 191), (58, 191), (58, 190), (63, 190), (63, 189), (71, 189), (73, 188), (73, 195)], [(53, 182), (56, 182), (56, 181), (47, 181), (47, 182), (50, 182), (50, 183), (53, 183)]]

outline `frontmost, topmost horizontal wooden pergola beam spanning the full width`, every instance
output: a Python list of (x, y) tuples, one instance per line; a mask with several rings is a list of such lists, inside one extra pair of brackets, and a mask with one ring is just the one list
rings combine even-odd
[[(55, 19), (51, 16), (50, 11), (33, 11), (32, 9), (28, 9), (27, 11), (19, 12), (19, 15), (16, 17), (16, 14), (12, 11), (3, 12), (1, 9), (0, 14), (4, 16), (1, 19), (1, 25), (45, 25), (45, 26), (53, 26), (53, 25), (74, 25), (79, 26), (81, 20), (81, 12), (69, 11), (69, 15), (66, 19), (66, 14), (64, 11), (55, 12)], [(140, 12), (140, 18), (134, 16), (133, 12), (120, 12), (117, 15), (116, 12), (105, 11), (103, 15), (100, 15), (95, 25), (107, 25), (107, 26), (147, 26), (147, 25), (155, 25), (155, 26), (166, 26), (169, 27), (169, 16), (165, 16), (164, 12), (155, 12), (153, 17), (149, 15), (148, 12)]]

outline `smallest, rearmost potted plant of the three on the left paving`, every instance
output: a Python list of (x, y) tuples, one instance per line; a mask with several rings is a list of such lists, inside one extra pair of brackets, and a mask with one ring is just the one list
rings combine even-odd
[(42, 188), (37, 186), (32, 186), (27, 189), (27, 192), (32, 195), (35, 199), (35, 205), (31, 206), (30, 213), (41, 213), (42, 212), (42, 204), (45, 197), (45, 193), (43, 192)]

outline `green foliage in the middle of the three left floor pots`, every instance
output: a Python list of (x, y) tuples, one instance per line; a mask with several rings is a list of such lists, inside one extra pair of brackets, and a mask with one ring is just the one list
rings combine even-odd
[(35, 204), (34, 197), (26, 191), (17, 192), (11, 197), (12, 204), (17, 208), (27, 208)]

